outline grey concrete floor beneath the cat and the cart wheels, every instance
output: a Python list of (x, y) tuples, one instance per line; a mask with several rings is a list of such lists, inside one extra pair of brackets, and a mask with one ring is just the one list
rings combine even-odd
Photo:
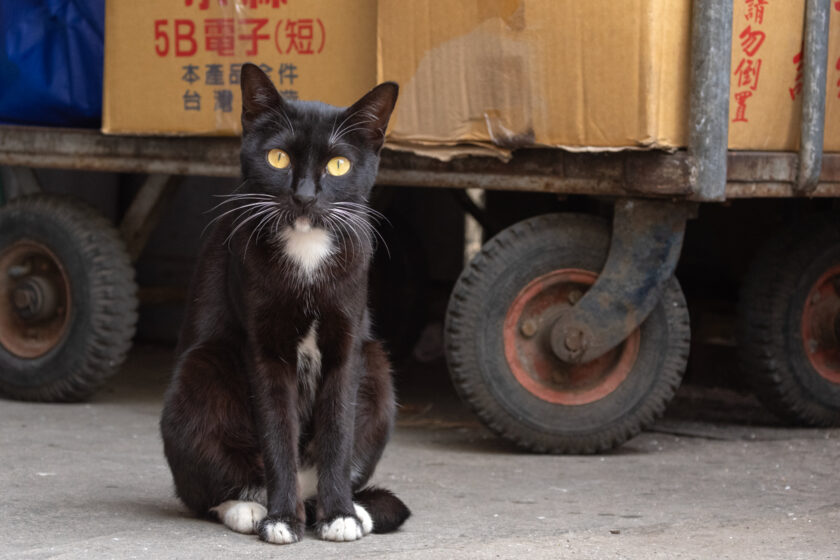
[(613, 453), (527, 455), (418, 372), (376, 475), (414, 511), (404, 528), (265, 544), (173, 497), (157, 430), (170, 363), (135, 349), (88, 404), (0, 401), (0, 558), (840, 558), (840, 430), (687, 389)]

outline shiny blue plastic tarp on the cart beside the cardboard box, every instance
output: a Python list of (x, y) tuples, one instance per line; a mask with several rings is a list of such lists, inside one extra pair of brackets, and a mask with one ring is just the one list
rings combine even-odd
[(0, 0), (0, 122), (98, 128), (105, 0)]

